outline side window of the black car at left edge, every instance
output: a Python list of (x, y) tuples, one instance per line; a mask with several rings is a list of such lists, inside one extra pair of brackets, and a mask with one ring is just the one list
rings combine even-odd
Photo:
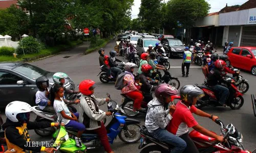
[(22, 78), (9, 72), (0, 71), (0, 85), (16, 85)]

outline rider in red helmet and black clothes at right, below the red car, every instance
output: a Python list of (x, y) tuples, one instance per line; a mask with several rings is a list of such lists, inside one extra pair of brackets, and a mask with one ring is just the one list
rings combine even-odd
[(212, 68), (209, 71), (209, 74), (207, 75), (208, 85), (212, 89), (219, 91), (219, 95), (220, 95), (219, 103), (224, 107), (226, 107), (225, 103), (226, 103), (226, 99), (229, 94), (229, 90), (228, 90), (228, 88), (219, 85), (219, 83), (222, 83), (222, 82), (230, 83), (230, 81), (223, 79), (223, 76), (221, 73), (221, 71), (224, 70), (225, 66), (226, 66), (226, 62), (224, 62), (223, 60), (217, 60), (215, 62), (215, 67)]

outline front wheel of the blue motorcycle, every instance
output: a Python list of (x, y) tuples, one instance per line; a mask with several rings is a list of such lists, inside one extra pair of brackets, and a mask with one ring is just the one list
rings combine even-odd
[[(127, 129), (126, 129), (126, 127)], [(140, 125), (139, 124), (127, 124), (125, 125), (118, 134), (118, 137), (120, 138), (121, 141), (125, 143), (136, 143), (137, 141), (140, 140)]]

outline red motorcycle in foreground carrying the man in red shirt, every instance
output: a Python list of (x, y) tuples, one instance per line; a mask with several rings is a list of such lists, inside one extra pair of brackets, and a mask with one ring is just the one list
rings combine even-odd
[[(210, 152), (249, 152), (243, 146), (243, 135), (236, 129), (233, 124), (228, 124), (226, 127), (223, 122), (219, 119), (215, 121), (217, 124), (221, 126), (221, 134), (226, 142), (219, 142), (215, 138), (210, 138), (205, 136), (195, 130), (189, 133), (189, 137), (194, 141), (197, 146), (199, 152), (210, 153)], [(140, 153), (145, 152), (162, 152), (167, 153), (172, 150), (173, 147), (170, 147), (169, 144), (165, 142), (154, 139), (150, 136), (145, 126), (140, 126), (140, 134), (142, 138), (140, 139), (139, 149), (142, 149)], [(147, 145), (153, 144), (153, 145)], [(146, 147), (145, 147), (146, 146)], [(255, 150), (254, 150), (255, 151)], [(253, 152), (254, 152), (253, 151)]]

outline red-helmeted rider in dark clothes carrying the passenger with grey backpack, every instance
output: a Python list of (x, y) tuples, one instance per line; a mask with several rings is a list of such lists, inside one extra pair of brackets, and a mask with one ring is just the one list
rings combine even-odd
[(144, 64), (141, 67), (142, 73), (140, 74), (140, 83), (142, 83), (141, 91), (143, 92), (144, 101), (146, 103), (150, 102), (153, 99), (152, 91), (155, 91), (158, 81), (149, 81), (147, 80), (150, 77), (150, 71), (153, 69), (149, 64)]

